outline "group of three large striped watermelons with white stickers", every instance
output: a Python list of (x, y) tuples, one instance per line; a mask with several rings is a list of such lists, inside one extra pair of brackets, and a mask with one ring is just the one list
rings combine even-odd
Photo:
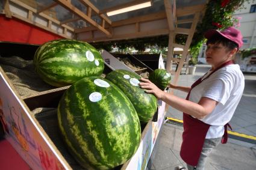
[(125, 163), (140, 144), (140, 123), (157, 110), (157, 99), (139, 87), (136, 73), (116, 70), (99, 77), (104, 61), (90, 44), (54, 40), (34, 56), (39, 76), (55, 87), (72, 86), (58, 105), (58, 124), (73, 157), (88, 169)]

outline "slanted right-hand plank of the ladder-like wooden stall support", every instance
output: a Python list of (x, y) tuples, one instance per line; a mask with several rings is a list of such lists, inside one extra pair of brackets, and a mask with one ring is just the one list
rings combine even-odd
[(200, 16), (200, 13), (196, 13), (195, 16), (194, 16), (194, 19), (193, 19), (193, 23), (192, 23), (192, 26), (190, 28), (190, 34), (189, 36), (187, 37), (187, 41), (186, 41), (186, 45), (183, 49), (183, 54), (182, 54), (182, 57), (181, 57), (181, 60), (180, 60), (180, 63), (178, 65), (178, 68), (177, 68), (177, 71), (175, 73), (175, 76), (173, 78), (173, 84), (176, 85), (176, 83), (178, 82), (178, 78), (180, 76), (180, 73), (181, 73), (181, 69), (183, 67), (183, 64), (184, 64), (184, 61), (187, 57), (187, 53), (189, 51), (189, 46), (191, 44), (191, 41), (192, 41), (192, 38), (193, 38), (193, 35), (195, 33), (195, 30), (196, 30), (196, 25), (198, 24), (198, 20), (199, 20), (199, 16)]

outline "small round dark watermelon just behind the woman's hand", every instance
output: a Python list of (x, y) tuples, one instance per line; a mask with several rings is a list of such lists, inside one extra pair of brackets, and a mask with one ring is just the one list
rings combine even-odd
[(170, 83), (171, 77), (170, 73), (167, 73), (165, 69), (159, 68), (152, 71), (149, 74), (148, 79), (151, 80), (152, 83), (157, 85), (157, 87), (161, 90), (165, 90)]

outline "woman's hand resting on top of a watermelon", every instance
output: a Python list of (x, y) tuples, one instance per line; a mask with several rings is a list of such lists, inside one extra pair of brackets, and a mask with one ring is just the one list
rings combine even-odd
[(148, 79), (140, 79), (140, 87), (146, 89), (146, 93), (154, 94), (157, 99), (162, 99), (164, 96), (164, 91), (160, 90), (154, 83)]

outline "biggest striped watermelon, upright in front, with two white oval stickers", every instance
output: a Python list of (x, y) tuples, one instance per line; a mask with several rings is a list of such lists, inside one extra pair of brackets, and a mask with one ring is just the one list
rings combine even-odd
[(125, 163), (140, 142), (140, 122), (128, 97), (110, 81), (85, 77), (63, 94), (58, 123), (70, 153), (84, 168)]

